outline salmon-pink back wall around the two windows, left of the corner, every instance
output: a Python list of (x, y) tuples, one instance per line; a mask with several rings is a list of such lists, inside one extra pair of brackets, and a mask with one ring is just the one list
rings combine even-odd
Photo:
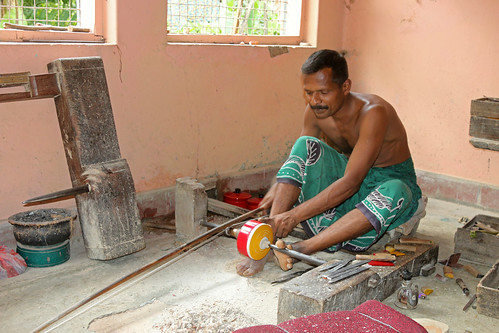
[[(272, 58), (267, 47), (172, 45), (166, 1), (105, 3), (104, 30), (116, 44), (0, 43), (0, 73), (46, 73), (57, 58), (101, 56), (137, 192), (285, 159), (300, 133), (299, 69), (314, 48)], [(328, 26), (339, 47), (339, 20)], [(0, 219), (33, 209), (23, 200), (71, 186), (53, 100), (0, 104), (0, 140)], [(74, 200), (37, 207), (52, 206)]]

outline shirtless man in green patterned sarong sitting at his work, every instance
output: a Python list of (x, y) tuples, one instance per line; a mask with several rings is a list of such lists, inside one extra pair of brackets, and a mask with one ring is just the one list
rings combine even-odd
[[(404, 126), (382, 98), (350, 91), (347, 63), (338, 52), (317, 51), (301, 70), (307, 103), (301, 136), (262, 200), (271, 209), (261, 221), (278, 238), (302, 223), (310, 238), (292, 248), (305, 254), (365, 251), (407, 222), (421, 198)], [(254, 275), (266, 260), (247, 258), (237, 272)], [(281, 268), (291, 262), (281, 258)]]

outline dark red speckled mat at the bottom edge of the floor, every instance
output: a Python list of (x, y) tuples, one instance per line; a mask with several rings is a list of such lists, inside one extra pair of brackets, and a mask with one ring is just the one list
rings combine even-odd
[(411, 318), (371, 300), (352, 311), (334, 311), (305, 316), (280, 323), (242, 328), (234, 333), (427, 333)]

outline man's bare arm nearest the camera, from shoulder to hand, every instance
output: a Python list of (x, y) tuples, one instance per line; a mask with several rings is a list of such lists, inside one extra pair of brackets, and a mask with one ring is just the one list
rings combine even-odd
[(336, 207), (355, 194), (374, 165), (387, 132), (388, 116), (382, 106), (361, 115), (359, 138), (350, 155), (345, 174), (310, 200), (275, 217), (276, 234), (285, 237), (298, 223)]

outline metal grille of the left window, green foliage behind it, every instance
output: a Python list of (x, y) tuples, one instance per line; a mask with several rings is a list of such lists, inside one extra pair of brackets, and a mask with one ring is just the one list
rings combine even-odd
[(80, 0), (0, 0), (0, 28), (4, 23), (81, 26)]

